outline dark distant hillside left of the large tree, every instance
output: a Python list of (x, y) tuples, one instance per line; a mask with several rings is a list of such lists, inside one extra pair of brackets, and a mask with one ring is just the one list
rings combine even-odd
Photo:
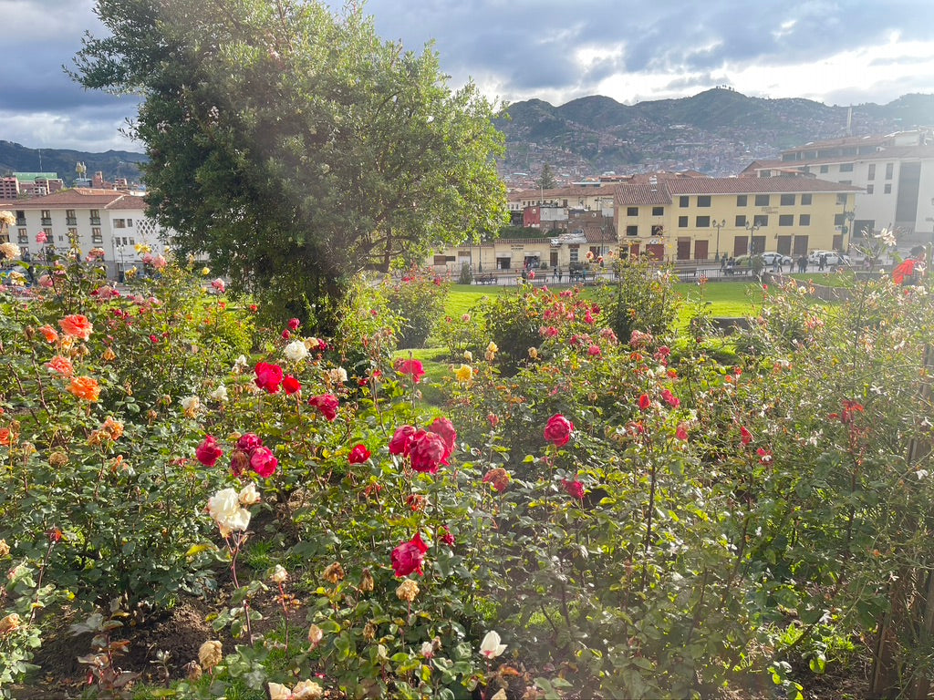
[[(40, 158), (41, 157), (41, 158)], [(83, 162), (88, 168), (88, 177), (100, 171), (108, 180), (126, 177), (139, 181), (137, 163), (146, 161), (142, 153), (125, 150), (108, 150), (105, 153), (87, 153), (62, 148), (27, 148), (10, 141), (0, 141), (0, 175), (7, 173), (58, 173), (66, 185), (70, 185), (77, 174), (75, 165)]]

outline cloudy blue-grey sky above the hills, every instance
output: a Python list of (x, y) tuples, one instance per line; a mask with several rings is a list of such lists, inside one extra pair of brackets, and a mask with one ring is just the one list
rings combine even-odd
[[(340, 7), (340, 0), (331, 0)], [(64, 75), (93, 0), (0, 0), (0, 139), (27, 147), (142, 150), (120, 135), (135, 101)], [(886, 103), (934, 92), (930, 0), (370, 0), (377, 32), (434, 40), (451, 85), (554, 105), (633, 103), (729, 85), (759, 97)], [(934, 115), (932, 115), (934, 122)]]

